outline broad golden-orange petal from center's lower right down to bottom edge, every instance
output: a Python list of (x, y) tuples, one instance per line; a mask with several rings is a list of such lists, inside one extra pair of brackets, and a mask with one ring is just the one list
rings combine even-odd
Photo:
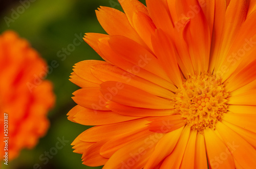
[(205, 129), (204, 138), (208, 162), (211, 168), (234, 168), (231, 150), (222, 142), (216, 132), (211, 129)]

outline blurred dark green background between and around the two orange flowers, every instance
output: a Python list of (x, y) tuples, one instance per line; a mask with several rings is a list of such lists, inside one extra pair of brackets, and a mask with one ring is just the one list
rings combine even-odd
[[(23, 2), (23, 3), (22, 3)], [(145, 4), (145, 1), (141, 1)], [(76, 104), (71, 99), (72, 93), (79, 89), (69, 81), (72, 66), (83, 60), (101, 60), (98, 54), (84, 41), (75, 49), (62, 49), (79, 43), (84, 33), (105, 33), (97, 21), (95, 10), (99, 6), (121, 10), (117, 0), (1, 0), (0, 33), (6, 30), (16, 31), (26, 38), (50, 65), (57, 61), (58, 67), (48, 74), (47, 79), (54, 84), (56, 95), (55, 107), (49, 112), (51, 126), (48, 133), (39, 139), (33, 150), (23, 150), (19, 157), (10, 161), (8, 166), (1, 161), (1, 168), (102, 168), (89, 167), (81, 162), (81, 155), (73, 153), (70, 145), (82, 131), (91, 126), (83, 126), (67, 120), (68, 111)], [(23, 10), (24, 9), (24, 10)], [(15, 12), (13, 12), (15, 11)], [(58, 150), (56, 155), (46, 160), (39, 157), (49, 152), (58, 142), (58, 137), (69, 142)], [(45, 156), (44, 156), (45, 157)]]

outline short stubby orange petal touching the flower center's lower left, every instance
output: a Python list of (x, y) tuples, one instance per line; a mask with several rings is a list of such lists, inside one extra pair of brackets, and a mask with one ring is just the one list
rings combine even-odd
[(185, 126), (185, 124), (184, 118), (182, 118), (181, 115), (172, 115), (153, 119), (152, 122), (148, 124), (148, 128), (150, 131), (166, 133), (177, 130)]

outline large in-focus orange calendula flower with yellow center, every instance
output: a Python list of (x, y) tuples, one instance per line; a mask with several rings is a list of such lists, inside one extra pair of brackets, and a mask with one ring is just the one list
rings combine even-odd
[(85, 41), (69, 120), (73, 142), (103, 168), (256, 166), (256, 1), (120, 0), (100, 7), (108, 35)]

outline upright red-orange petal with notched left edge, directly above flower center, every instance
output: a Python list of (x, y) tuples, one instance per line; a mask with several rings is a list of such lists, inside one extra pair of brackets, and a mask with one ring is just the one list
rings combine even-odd
[(184, 31), (184, 40), (188, 44), (190, 58), (196, 74), (208, 71), (210, 54), (210, 30), (200, 4), (196, 0), (177, 1), (177, 13), (180, 18), (190, 18)]

